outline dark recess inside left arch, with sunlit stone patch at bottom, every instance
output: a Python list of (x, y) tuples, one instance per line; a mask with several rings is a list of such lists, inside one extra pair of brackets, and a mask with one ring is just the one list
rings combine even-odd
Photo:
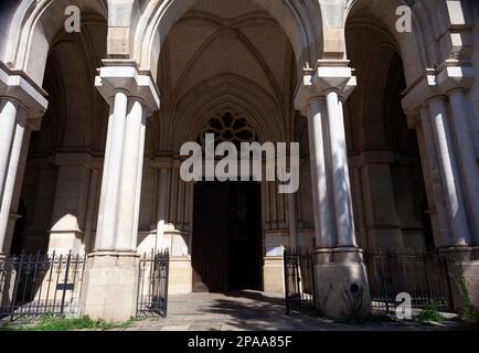
[(93, 243), (108, 117), (93, 82), (106, 36), (105, 18), (84, 12), (79, 33), (61, 29), (51, 39), (42, 79), (49, 108), (17, 182), (25, 212), (13, 236), (20, 249), (79, 252)]

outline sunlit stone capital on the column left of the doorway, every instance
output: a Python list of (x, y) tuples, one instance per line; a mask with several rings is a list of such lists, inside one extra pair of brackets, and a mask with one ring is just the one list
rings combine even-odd
[(153, 113), (160, 108), (160, 94), (151, 73), (138, 68), (132, 60), (103, 60), (98, 68), (95, 87), (106, 101), (111, 103), (117, 92), (126, 92), (129, 97), (139, 99)]

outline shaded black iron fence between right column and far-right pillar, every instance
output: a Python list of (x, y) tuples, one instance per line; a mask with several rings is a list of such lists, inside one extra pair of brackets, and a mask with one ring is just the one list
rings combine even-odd
[(450, 276), (446, 257), (438, 252), (365, 253), (372, 309), (394, 313), (396, 296), (411, 296), (413, 309), (434, 302), (453, 311)]

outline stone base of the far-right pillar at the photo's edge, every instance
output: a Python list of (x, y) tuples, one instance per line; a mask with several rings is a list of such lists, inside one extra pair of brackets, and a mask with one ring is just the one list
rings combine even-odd
[(447, 259), (454, 309), (466, 319), (476, 320), (479, 319), (478, 249), (467, 246), (443, 249)]

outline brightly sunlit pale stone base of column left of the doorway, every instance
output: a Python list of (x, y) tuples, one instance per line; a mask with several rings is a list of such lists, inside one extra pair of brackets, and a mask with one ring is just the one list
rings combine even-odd
[(116, 322), (135, 318), (139, 259), (136, 252), (97, 250), (88, 255), (79, 298), (82, 314)]

